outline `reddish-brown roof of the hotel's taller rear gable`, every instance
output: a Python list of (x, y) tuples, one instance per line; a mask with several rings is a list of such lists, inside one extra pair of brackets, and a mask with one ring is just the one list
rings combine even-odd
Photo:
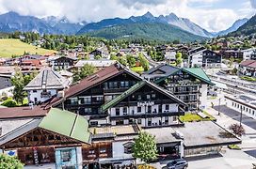
[[(104, 81), (106, 81), (114, 76), (120, 75), (124, 71), (131, 74), (132, 76), (136, 77), (138, 80), (141, 80), (141, 78), (139, 77), (138, 74), (136, 74), (135, 72), (133, 72), (129, 69), (124, 68), (122, 65), (120, 65), (120, 63), (116, 63), (114, 65), (111, 65), (107, 68), (104, 68), (104, 69), (88, 76), (87, 78), (80, 81), (78, 84), (73, 84), (72, 86), (70, 86), (70, 88), (67, 88), (64, 93), (64, 99), (70, 98), (70, 97), (77, 95), (85, 90), (88, 90), (88, 88), (91, 88), (97, 84), (103, 83)], [(52, 100), (50, 104), (56, 105), (61, 100), (63, 100), (63, 98), (62, 99), (56, 98), (56, 99)]]

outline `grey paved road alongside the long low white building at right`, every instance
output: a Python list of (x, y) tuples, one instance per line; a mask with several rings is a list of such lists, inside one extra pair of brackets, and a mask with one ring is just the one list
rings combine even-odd
[[(217, 111), (218, 110), (218, 106), (215, 106), (214, 109)], [(227, 106), (221, 105), (220, 106), (220, 112), (222, 114), (228, 115), (230, 116), (232, 119), (236, 120), (237, 122), (240, 121), (240, 112), (234, 111), (230, 108), (228, 108)], [(242, 123), (247, 125), (248, 127), (256, 130), (256, 119), (253, 119), (251, 117), (249, 117), (248, 115), (242, 115)]]

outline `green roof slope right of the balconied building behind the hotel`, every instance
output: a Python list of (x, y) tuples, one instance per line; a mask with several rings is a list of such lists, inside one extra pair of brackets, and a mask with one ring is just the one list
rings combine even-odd
[(204, 72), (203, 69), (200, 68), (189, 68), (189, 69), (183, 69), (184, 72), (187, 72), (189, 74), (191, 74), (192, 76), (197, 77), (198, 79), (200, 79), (201, 81), (207, 83), (207, 84), (212, 84), (211, 79), (206, 75), (206, 73)]

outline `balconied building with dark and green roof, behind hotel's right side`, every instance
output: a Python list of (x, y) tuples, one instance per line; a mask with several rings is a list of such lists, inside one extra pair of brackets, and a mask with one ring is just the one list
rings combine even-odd
[(186, 111), (206, 107), (208, 85), (214, 85), (200, 68), (180, 69), (163, 64), (142, 76), (183, 100), (187, 104)]

